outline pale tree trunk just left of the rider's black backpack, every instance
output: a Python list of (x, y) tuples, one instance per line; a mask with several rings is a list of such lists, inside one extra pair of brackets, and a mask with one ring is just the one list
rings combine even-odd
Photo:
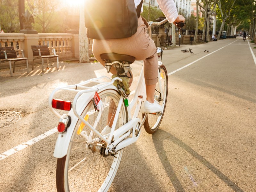
[(89, 62), (88, 39), (86, 36), (86, 28), (84, 24), (84, 2), (80, 5), (80, 20), (79, 20), (79, 62)]

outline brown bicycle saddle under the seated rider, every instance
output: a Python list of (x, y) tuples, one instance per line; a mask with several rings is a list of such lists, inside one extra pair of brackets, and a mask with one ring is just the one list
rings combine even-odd
[(100, 58), (108, 63), (119, 61), (123, 64), (132, 64), (135, 61), (135, 57), (118, 53), (102, 53)]

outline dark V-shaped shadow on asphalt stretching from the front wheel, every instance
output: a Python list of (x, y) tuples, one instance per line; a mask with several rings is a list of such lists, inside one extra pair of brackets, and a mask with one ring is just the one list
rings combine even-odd
[(172, 134), (164, 130), (158, 130), (155, 134), (152, 135), (152, 139), (153, 139), (153, 143), (155, 145), (156, 151), (161, 151), (161, 153), (158, 153), (159, 159), (161, 160), (161, 163), (165, 168), (165, 171), (176, 191), (185, 191), (185, 189), (182, 187), (177, 175), (172, 169), (172, 165), (170, 164), (170, 162), (165, 160), (165, 159), (168, 159), (168, 156), (166, 152), (163, 150), (164, 140), (169, 140), (174, 144), (178, 145), (179, 147), (183, 148), (184, 150), (186, 150), (189, 154), (195, 157), (201, 164), (203, 164), (205, 167), (207, 167), (209, 170), (215, 173), (222, 181), (224, 181), (234, 191), (244, 192), (232, 180), (230, 180), (220, 170), (218, 170), (209, 161), (207, 161), (203, 156), (199, 155), (196, 151), (194, 151), (187, 144), (185, 144), (184, 142), (182, 142), (180, 139), (173, 136)]

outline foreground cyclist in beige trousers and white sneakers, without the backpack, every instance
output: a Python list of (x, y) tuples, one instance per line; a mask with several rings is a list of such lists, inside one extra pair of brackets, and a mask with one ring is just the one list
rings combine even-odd
[[(134, 0), (135, 7), (140, 4), (141, 0)], [(185, 21), (182, 15), (178, 15), (176, 5), (173, 0), (157, 0), (160, 9), (170, 23), (178, 23)], [(143, 7), (141, 8), (141, 12)], [(157, 83), (158, 74), (158, 60), (156, 45), (154, 41), (148, 36), (148, 22), (140, 16), (138, 18), (137, 32), (128, 38), (122, 39), (94, 39), (92, 44), (92, 52), (94, 57), (104, 66), (105, 62), (101, 60), (100, 54), (102, 53), (118, 53), (124, 55), (131, 55), (135, 60), (144, 61), (144, 76), (146, 84), (147, 99), (144, 108), (141, 109), (142, 113), (156, 113), (162, 111), (162, 107), (154, 100), (154, 93)], [(115, 68), (111, 68), (112, 74), (117, 74)], [(132, 83), (132, 77), (129, 85)]]

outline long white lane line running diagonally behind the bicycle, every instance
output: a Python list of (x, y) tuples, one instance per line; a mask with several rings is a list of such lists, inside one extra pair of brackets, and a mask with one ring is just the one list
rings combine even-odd
[[(238, 41), (238, 39), (237, 39), (236, 41)], [(236, 42), (236, 41), (233, 41), (232, 43), (234, 43), (234, 42)], [(232, 44), (232, 43), (230, 43), (230, 44)], [(183, 67), (181, 67), (181, 68), (179, 68), (179, 69), (176, 69), (175, 71), (172, 71), (171, 73), (168, 73), (167, 75), (170, 76), (170, 75), (172, 75), (173, 73), (176, 73), (177, 71), (180, 71), (181, 69), (184, 69), (184, 68), (186, 68), (186, 67), (188, 67), (188, 66), (194, 64), (195, 62), (197, 62), (197, 61), (199, 61), (199, 60), (201, 60), (201, 59), (204, 59), (205, 57), (207, 57), (207, 56), (211, 55), (212, 53), (215, 53), (215, 52), (217, 52), (217, 51), (223, 49), (224, 47), (226, 47), (226, 46), (228, 46), (228, 45), (230, 45), (230, 44), (227, 44), (227, 45), (221, 47), (220, 49), (215, 50), (214, 52), (211, 52), (211, 53), (209, 53), (209, 54), (207, 54), (207, 55), (205, 55), (205, 56), (203, 56), (203, 57), (201, 57), (201, 58), (199, 58), (199, 59), (197, 59), (197, 60), (195, 60), (195, 61), (193, 61), (193, 62), (191, 62), (191, 63), (189, 63), (189, 64), (187, 64), (187, 65), (185, 65), (185, 66), (183, 66)], [(251, 48), (251, 47), (250, 47), (250, 48)], [(251, 51), (252, 51), (252, 50), (251, 50)], [(255, 58), (255, 56), (254, 56), (254, 58)], [(254, 59), (254, 58), (253, 58), (253, 59)], [(255, 58), (254, 61), (256, 62), (256, 58)], [(135, 90), (133, 90), (133, 91), (131, 92), (131, 95), (134, 94), (134, 92), (135, 92)], [(27, 148), (28, 146), (31, 146), (31, 145), (37, 143), (38, 141), (40, 141), (40, 140), (42, 140), (42, 139), (45, 139), (46, 137), (48, 137), (48, 136), (50, 136), (50, 135), (52, 135), (52, 134), (54, 134), (54, 133), (56, 133), (56, 132), (58, 132), (57, 127), (53, 128), (53, 129), (51, 129), (51, 130), (49, 130), (49, 131), (47, 131), (47, 132), (44, 132), (43, 134), (41, 134), (41, 135), (39, 135), (39, 136), (37, 136), (37, 137), (34, 137), (33, 139), (28, 140), (27, 142), (24, 142), (24, 143), (22, 143), (22, 144), (20, 144), (20, 145), (17, 145), (16, 147), (13, 147), (13, 148), (11, 148), (11, 149), (9, 149), (9, 150), (7, 150), (7, 151), (1, 153), (1, 154), (0, 154), (0, 161), (3, 160), (3, 159), (5, 159), (5, 158), (8, 157), (8, 156), (13, 155), (14, 153), (19, 152), (20, 150), (23, 150), (24, 148)]]

